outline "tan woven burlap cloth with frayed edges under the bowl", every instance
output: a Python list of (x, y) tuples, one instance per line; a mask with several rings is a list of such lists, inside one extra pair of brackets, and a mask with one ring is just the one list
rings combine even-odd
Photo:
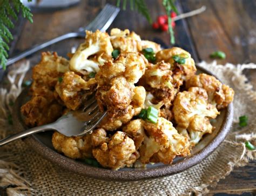
[[(251, 63), (222, 66), (215, 62), (202, 62), (200, 66), (215, 73), (235, 91), (233, 127), (226, 140), (200, 164), (164, 178), (125, 183), (107, 182), (62, 171), (19, 140), (0, 148), (0, 186), (8, 187), (9, 195), (206, 193), (208, 186), (214, 186), (220, 179), (225, 178), (234, 166), (244, 166), (248, 160), (256, 158), (256, 151), (248, 151), (244, 145), (245, 140), (256, 145), (256, 92), (242, 75), (242, 70), (256, 69), (256, 65)], [(10, 71), (7, 78), (11, 87), (9, 90), (0, 89), (0, 137), (15, 132), (6, 118), (11, 110), (10, 103), (21, 92), (21, 83), (28, 69), (29, 65), (23, 64)], [(237, 123), (239, 116), (244, 114), (248, 116), (249, 124), (241, 129)]]

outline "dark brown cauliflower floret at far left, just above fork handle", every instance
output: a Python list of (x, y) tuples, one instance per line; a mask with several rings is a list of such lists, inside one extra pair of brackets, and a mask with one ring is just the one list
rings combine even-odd
[(53, 91), (42, 86), (21, 107), (21, 112), (25, 117), (25, 124), (34, 127), (57, 120), (62, 115), (63, 106), (57, 102)]

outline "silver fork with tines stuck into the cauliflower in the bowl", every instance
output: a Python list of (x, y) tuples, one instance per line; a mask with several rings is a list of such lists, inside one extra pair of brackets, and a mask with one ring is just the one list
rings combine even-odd
[[(106, 116), (105, 112), (100, 112), (97, 100), (95, 96), (92, 96), (87, 100), (86, 105), (83, 110), (78, 112), (69, 112), (68, 114), (63, 115), (54, 123), (50, 123), (43, 126), (33, 127), (16, 134), (13, 134), (9, 137), (6, 137), (0, 140), (0, 146), (10, 143), (16, 139), (21, 139), (31, 134), (55, 130), (59, 133), (64, 134), (64, 136), (83, 136), (86, 133), (89, 133), (95, 129), (95, 127), (100, 123), (100, 121)], [(83, 118), (83, 120), (81, 120)]]

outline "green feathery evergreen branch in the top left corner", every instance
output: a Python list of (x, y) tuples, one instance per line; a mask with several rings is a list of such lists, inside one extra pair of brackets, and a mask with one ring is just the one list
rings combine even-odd
[[(29, 2), (31, 0), (28, 0)], [(11, 19), (18, 19), (18, 13), (22, 11), (22, 16), (33, 22), (30, 9), (24, 6), (20, 0), (0, 0), (0, 63), (6, 69), (9, 46), (8, 43), (13, 39), (9, 29), (14, 28)]]

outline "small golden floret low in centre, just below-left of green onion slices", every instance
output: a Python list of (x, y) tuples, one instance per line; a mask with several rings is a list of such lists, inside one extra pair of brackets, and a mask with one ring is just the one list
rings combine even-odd
[(128, 133), (132, 137), (136, 150), (142, 145), (145, 132), (143, 127), (144, 121), (142, 119), (131, 120), (123, 127), (123, 132)]

